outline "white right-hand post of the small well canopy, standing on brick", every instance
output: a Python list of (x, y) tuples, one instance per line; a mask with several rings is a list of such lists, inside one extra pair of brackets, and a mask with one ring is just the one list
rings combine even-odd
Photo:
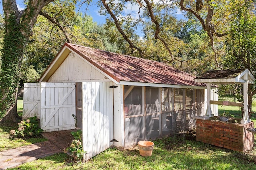
[(244, 75), (244, 80), (246, 80), (246, 82), (243, 84), (244, 86), (244, 115), (243, 115), (243, 119), (240, 122), (241, 124), (246, 124), (251, 122), (251, 119), (249, 119), (249, 110), (248, 110), (248, 74)]

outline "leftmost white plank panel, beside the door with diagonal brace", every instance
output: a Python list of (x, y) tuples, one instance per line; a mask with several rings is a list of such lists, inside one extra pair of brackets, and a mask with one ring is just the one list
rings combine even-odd
[(22, 119), (40, 118), (40, 83), (24, 83)]

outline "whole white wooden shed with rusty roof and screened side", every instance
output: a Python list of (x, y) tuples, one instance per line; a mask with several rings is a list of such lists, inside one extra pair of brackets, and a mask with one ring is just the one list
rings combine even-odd
[(194, 78), (165, 63), (65, 43), (40, 83), (24, 84), (23, 117), (36, 115), (44, 132), (82, 129), (89, 159), (194, 128), (207, 98)]

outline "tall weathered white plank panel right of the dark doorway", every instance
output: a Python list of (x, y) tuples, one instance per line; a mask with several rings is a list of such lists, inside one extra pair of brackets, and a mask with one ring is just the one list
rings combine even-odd
[(86, 159), (108, 149), (114, 142), (112, 82), (83, 82), (83, 147)]

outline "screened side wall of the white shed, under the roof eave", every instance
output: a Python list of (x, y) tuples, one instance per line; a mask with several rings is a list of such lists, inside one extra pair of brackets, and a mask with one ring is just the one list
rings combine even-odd
[(125, 147), (194, 128), (204, 89), (124, 86)]

